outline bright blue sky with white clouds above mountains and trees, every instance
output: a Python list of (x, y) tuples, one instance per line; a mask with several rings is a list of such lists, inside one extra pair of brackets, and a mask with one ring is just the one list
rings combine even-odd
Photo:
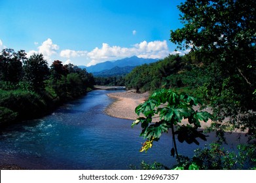
[[(0, 0), (0, 50), (43, 54), (49, 65), (95, 65), (176, 54), (183, 0)], [(180, 53), (183, 54), (183, 53)]]

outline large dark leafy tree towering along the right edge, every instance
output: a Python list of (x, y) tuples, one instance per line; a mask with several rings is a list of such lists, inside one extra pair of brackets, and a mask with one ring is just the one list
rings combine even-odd
[(187, 0), (178, 8), (184, 26), (171, 31), (170, 41), (191, 48), (204, 61), (205, 75), (213, 76), (201, 91), (216, 120), (229, 117), (255, 137), (256, 1)]

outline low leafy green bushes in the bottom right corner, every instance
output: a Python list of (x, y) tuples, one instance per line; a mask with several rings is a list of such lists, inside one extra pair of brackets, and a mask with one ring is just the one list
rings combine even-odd
[(230, 170), (254, 169), (256, 154), (254, 144), (238, 145), (238, 153), (229, 152), (220, 144), (211, 143), (205, 148), (194, 150), (194, 156), (180, 156), (180, 161), (173, 167), (175, 170), (200, 169), (200, 170)]

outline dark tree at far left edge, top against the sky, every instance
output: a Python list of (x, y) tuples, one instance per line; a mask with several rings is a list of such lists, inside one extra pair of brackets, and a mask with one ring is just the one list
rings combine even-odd
[(0, 79), (17, 83), (22, 78), (22, 61), (26, 60), (24, 50), (14, 52), (13, 49), (3, 49), (0, 54)]

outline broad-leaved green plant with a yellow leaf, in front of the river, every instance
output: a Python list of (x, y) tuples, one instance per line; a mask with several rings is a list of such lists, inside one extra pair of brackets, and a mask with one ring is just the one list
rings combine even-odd
[[(159, 90), (154, 92), (147, 101), (136, 107), (136, 114), (143, 114), (145, 117), (139, 117), (133, 122), (132, 127), (141, 123), (141, 136), (147, 141), (143, 144), (141, 151), (147, 151), (153, 146), (154, 141), (158, 141), (162, 133), (168, 133), (172, 129), (174, 150), (178, 158), (175, 135), (179, 142), (192, 142), (199, 144), (196, 140), (200, 138), (206, 141), (206, 135), (198, 131), (201, 127), (200, 122), (207, 122), (211, 118), (208, 112), (195, 111), (193, 106), (202, 104), (200, 100), (187, 95), (186, 93), (175, 93), (172, 90)], [(157, 122), (152, 123), (153, 118)], [(189, 124), (181, 124), (181, 120), (188, 119)], [(175, 126), (175, 129), (174, 129)], [(175, 130), (175, 131), (174, 131)]]

